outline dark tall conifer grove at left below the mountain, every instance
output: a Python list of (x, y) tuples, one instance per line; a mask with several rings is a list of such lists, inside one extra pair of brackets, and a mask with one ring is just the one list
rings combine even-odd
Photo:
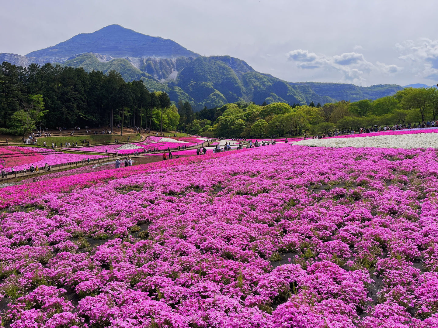
[[(42, 101), (39, 107), (35, 99)], [(44, 110), (35, 116), (35, 108)], [(179, 124), (177, 108), (165, 92), (149, 92), (141, 80), (125, 82), (116, 71), (87, 73), (52, 64), (22, 67), (4, 62), (0, 65), (0, 128), (17, 131), (17, 117), (23, 115), (31, 115), (36, 126), (48, 128), (113, 130), (119, 124), (173, 130)]]

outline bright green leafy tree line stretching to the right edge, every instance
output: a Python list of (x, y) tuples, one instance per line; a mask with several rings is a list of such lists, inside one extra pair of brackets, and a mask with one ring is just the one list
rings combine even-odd
[(395, 124), (417, 126), (438, 119), (438, 89), (406, 88), (393, 96), (325, 105), (295, 105), (277, 102), (255, 105), (237, 102), (220, 108), (204, 108), (187, 122), (187, 131), (206, 137), (269, 137), (329, 133), (335, 129)]

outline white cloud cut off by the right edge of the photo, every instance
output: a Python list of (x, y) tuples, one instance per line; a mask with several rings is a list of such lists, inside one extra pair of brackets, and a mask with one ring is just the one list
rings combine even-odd
[(418, 77), (438, 80), (438, 40), (420, 38), (417, 42), (406, 40), (396, 44), (399, 59), (410, 65)]

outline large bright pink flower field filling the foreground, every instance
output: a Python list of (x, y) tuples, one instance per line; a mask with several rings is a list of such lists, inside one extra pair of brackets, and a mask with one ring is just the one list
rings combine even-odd
[(278, 144), (158, 165), (0, 190), (3, 325), (438, 325), (434, 149)]

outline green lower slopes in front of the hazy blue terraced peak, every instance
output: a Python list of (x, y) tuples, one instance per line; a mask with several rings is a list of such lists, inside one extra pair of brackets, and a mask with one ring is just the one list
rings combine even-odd
[(136, 61), (116, 58), (103, 62), (95, 54), (86, 53), (60, 65), (83, 67), (87, 72), (116, 70), (127, 81), (143, 80), (150, 91), (165, 91), (175, 103), (189, 101), (197, 111), (237, 101), (306, 105), (311, 101), (325, 104), (377, 99), (403, 89), (395, 84), (359, 87), (340, 83), (286, 82), (256, 72), (243, 60), (230, 56), (138, 58)]

